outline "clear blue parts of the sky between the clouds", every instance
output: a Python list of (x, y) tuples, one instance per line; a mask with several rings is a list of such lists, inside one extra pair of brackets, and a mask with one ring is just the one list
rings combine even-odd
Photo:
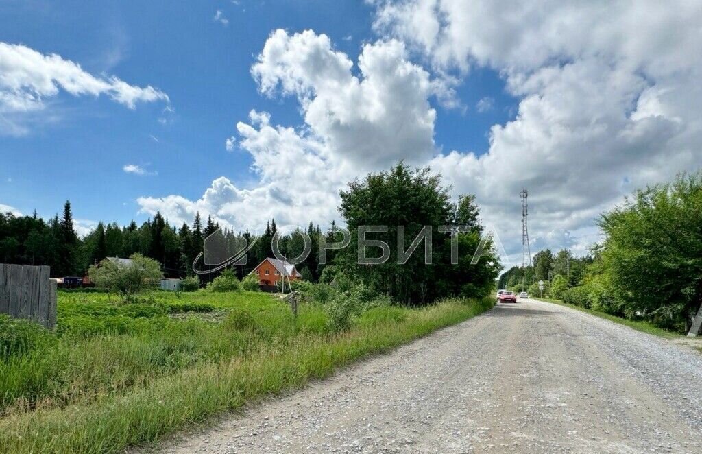
[[(272, 30), (327, 34), (352, 60), (362, 43), (378, 39), (371, 6), (359, 1), (60, 3), (0, 6), (0, 41), (57, 53), (91, 74), (154, 86), (168, 94), (173, 112), (161, 102), (131, 110), (105, 96), (60, 93), (27, 120), (27, 134), (2, 136), (8, 165), (0, 171), (0, 202), (41, 216), (69, 199), (77, 219), (127, 223), (147, 217), (138, 213), (140, 196), (197, 199), (218, 176), (242, 188), (256, 185), (251, 157), (225, 150), (234, 124), (251, 109), (281, 124), (302, 124), (294, 100), (261, 96), (250, 74)], [(226, 25), (214, 19), (217, 11)], [(491, 124), (508, 119), (516, 104), (492, 70), (476, 70), (457, 90), (465, 109), (432, 100), (439, 110), (435, 141), (442, 150), (482, 153)], [(494, 105), (477, 112), (484, 97)], [(148, 174), (126, 174), (125, 164)]]

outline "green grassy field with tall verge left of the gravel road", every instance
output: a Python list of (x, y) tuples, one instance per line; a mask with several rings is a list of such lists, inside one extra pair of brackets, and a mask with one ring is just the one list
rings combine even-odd
[(493, 306), (380, 306), (333, 332), (258, 292), (152, 292), (122, 304), (60, 292), (55, 333), (3, 319), (0, 452), (104, 453), (151, 443), (247, 401), (326, 377)]

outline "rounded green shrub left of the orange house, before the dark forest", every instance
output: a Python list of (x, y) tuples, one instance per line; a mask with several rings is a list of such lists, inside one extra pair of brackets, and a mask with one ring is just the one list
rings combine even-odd
[(88, 275), (99, 288), (117, 292), (124, 298), (139, 293), (148, 287), (157, 287), (163, 276), (161, 265), (141, 254), (129, 257), (128, 265), (105, 259), (88, 269)]

